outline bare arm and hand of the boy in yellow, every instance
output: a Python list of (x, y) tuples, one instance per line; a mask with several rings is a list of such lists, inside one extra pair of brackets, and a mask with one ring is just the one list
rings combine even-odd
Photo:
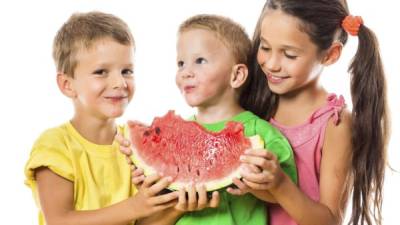
[(36, 170), (36, 180), (41, 209), (48, 225), (126, 225), (172, 207), (176, 204), (173, 200), (178, 197), (176, 192), (157, 196), (169, 185), (169, 180), (155, 175), (146, 178), (134, 197), (98, 210), (76, 211), (72, 182), (45, 167)]

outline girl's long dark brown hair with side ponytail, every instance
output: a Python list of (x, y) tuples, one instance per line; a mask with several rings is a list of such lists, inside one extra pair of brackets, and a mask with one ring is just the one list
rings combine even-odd
[[(268, 0), (253, 38), (250, 76), (241, 95), (241, 105), (266, 119), (276, 112), (279, 97), (268, 88), (257, 63), (260, 27), (268, 10), (281, 10), (302, 21), (320, 51), (333, 41), (343, 44), (347, 33), (342, 20), (349, 15), (345, 0)], [(382, 191), (389, 136), (386, 84), (379, 47), (374, 33), (361, 25), (358, 49), (348, 69), (351, 76), (352, 109), (352, 214), (349, 224), (382, 224)]]

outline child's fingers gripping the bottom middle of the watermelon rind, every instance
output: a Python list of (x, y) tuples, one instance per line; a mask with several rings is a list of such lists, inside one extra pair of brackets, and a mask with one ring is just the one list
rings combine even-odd
[[(186, 195), (187, 193), (187, 195)], [(187, 196), (187, 198), (186, 198)], [(204, 185), (189, 185), (179, 190), (178, 204), (175, 209), (179, 211), (199, 211), (204, 208), (216, 208), (219, 205), (219, 193), (214, 191), (210, 200)]]

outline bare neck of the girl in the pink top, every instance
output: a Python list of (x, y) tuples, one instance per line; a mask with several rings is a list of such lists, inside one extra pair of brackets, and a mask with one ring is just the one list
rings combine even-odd
[(287, 126), (302, 124), (325, 104), (327, 95), (325, 89), (318, 85), (280, 95), (274, 119)]

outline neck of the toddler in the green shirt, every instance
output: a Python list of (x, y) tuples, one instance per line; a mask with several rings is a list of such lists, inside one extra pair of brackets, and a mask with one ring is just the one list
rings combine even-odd
[(198, 107), (196, 120), (200, 123), (216, 123), (232, 118), (244, 109), (236, 102)]

